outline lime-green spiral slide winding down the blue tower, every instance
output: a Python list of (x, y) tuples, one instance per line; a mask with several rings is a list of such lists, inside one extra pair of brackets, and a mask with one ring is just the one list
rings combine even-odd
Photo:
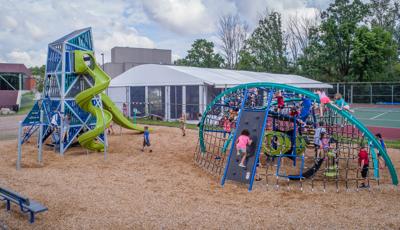
[[(103, 151), (104, 145), (96, 141), (96, 138), (110, 126), (111, 120), (124, 128), (143, 132), (143, 127), (132, 124), (112, 100), (102, 93), (110, 84), (110, 77), (96, 64), (92, 51), (77, 50), (74, 53), (75, 72), (78, 74), (90, 75), (94, 80), (93, 87), (80, 92), (75, 97), (76, 103), (83, 110), (91, 113), (96, 117), (96, 126), (94, 129), (82, 134), (78, 137), (78, 141), (82, 147), (94, 151)], [(103, 110), (93, 105), (92, 99), (100, 94), (103, 103)]]

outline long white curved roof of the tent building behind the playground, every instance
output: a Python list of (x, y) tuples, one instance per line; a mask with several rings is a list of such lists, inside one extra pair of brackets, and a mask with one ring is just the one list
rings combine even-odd
[(329, 84), (292, 74), (156, 64), (139, 65), (124, 72), (111, 80), (110, 87), (207, 84), (229, 88), (253, 82), (288, 84), (300, 88), (332, 88)]

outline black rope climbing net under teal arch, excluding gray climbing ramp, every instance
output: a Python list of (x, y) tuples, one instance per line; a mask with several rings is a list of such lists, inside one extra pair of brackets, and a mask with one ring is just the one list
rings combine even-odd
[[(360, 130), (363, 125), (350, 112), (332, 104), (320, 107), (314, 93), (294, 87), (250, 84), (229, 89), (203, 114), (194, 161), (212, 175), (223, 176), (229, 155), (236, 155), (231, 150), (241, 111), (265, 109), (268, 118), (260, 137), (256, 175), (262, 180), (257, 183), (276, 188), (296, 185), (301, 190), (307, 185), (324, 191), (358, 190), (364, 182), (369, 188), (397, 183), (379, 157), (386, 151), (376, 145), (373, 134)], [(360, 168), (360, 149), (368, 153), (368, 170)]]

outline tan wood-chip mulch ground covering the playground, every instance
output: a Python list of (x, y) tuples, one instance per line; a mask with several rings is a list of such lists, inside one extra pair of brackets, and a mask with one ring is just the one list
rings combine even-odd
[[(274, 190), (265, 181), (252, 192), (219, 181), (193, 163), (197, 131), (153, 127), (153, 152), (142, 136), (124, 130), (109, 137), (107, 159), (75, 147), (64, 157), (45, 148), (39, 165), (35, 140), (15, 170), (16, 141), (0, 142), (0, 186), (46, 205), (34, 224), (13, 205), (0, 205), (0, 229), (399, 229), (400, 192)], [(390, 155), (397, 168), (400, 151)], [(3, 225), (3, 226), (1, 226)]]

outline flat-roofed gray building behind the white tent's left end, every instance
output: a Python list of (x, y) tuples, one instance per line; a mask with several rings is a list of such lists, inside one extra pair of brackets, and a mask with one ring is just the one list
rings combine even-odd
[(104, 64), (104, 71), (114, 78), (143, 64), (171, 65), (171, 50), (114, 47), (111, 49), (111, 62)]

